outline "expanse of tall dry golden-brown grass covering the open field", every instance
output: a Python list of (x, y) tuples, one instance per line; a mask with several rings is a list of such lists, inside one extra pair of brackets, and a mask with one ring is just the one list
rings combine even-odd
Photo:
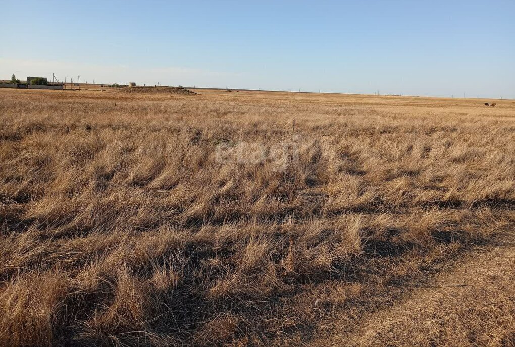
[[(201, 94), (0, 90), (0, 344), (350, 342), (512, 241), (515, 102)], [(284, 172), (216, 160), (220, 143), (288, 140), (293, 118)], [(502, 283), (467, 322), (442, 308), (436, 330), (383, 343), (459, 326), (461, 345), (513, 344)]]

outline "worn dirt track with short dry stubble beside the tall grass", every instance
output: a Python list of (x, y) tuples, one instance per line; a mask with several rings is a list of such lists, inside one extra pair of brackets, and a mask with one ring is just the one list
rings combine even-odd
[(314, 345), (515, 346), (515, 246), (458, 264), (358, 326)]

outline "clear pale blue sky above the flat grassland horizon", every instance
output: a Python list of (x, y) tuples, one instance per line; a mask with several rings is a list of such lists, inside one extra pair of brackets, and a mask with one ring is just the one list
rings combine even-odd
[(0, 78), (515, 98), (515, 1), (0, 0)]

